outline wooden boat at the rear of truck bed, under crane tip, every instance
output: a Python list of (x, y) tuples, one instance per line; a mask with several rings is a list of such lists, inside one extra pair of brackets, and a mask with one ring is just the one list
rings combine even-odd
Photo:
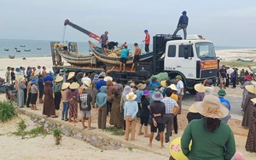
[(75, 52), (67, 52), (56, 49), (57, 53), (73, 66), (89, 66), (91, 63), (91, 55), (82, 55)]

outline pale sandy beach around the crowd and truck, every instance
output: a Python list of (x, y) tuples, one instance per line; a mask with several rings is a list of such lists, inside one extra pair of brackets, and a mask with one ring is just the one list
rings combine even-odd
[[(253, 49), (233, 49), (233, 50), (218, 50), (216, 51), (217, 56), (223, 63), (231, 63), (233, 60), (241, 58), (241, 54), (245, 59), (253, 59), (255, 50)], [(10, 59), (0, 59), (0, 77), (4, 77), (7, 66), (46, 66), (48, 71), (52, 71), (52, 60), (51, 57), (35, 57), (35, 58), (15, 58)], [(66, 65), (67, 63), (65, 63)], [(247, 64), (245, 65), (247, 66)], [(241, 66), (242, 67), (242, 66)], [(218, 87), (215, 88), (215, 92), (218, 90)], [(241, 89), (227, 89), (227, 94), (234, 95), (235, 97), (241, 97)], [(0, 100), (4, 100), (4, 94), (0, 94)], [(191, 104), (193, 102), (191, 101)], [(36, 111), (38, 115), (42, 114), (42, 105), (38, 105), (39, 111)], [(189, 106), (185, 106), (184, 109)], [(26, 109), (28, 110), (28, 109)], [(173, 140), (176, 137), (179, 137), (183, 134), (183, 129), (187, 125), (186, 121), (181, 121), (186, 117), (186, 111), (183, 111), (183, 114), (178, 118), (179, 119), (179, 133), (171, 137)], [(61, 115), (60, 111), (57, 111), (58, 115)], [(96, 109), (92, 111), (92, 115), (96, 115)], [(29, 117), (25, 115), (20, 115), (19, 118), (10, 121), (9, 123), (0, 123), (0, 141), (1, 141), (1, 150), (0, 154), (3, 159), (113, 159), (121, 156), (122, 159), (167, 159), (170, 153), (168, 151), (168, 146), (163, 150), (155, 149), (159, 146), (159, 142), (154, 140), (154, 150), (159, 151), (160, 154), (151, 153), (150, 151), (139, 151), (137, 149), (119, 149), (117, 151), (101, 151), (100, 149), (90, 146), (89, 144), (84, 143), (82, 140), (75, 140), (73, 138), (64, 137), (61, 143), (61, 146), (55, 146), (53, 141), (52, 134), (47, 135), (44, 139), (42, 137), (25, 139), (21, 140), (20, 137), (15, 137), (15, 135), (10, 134), (16, 129), (16, 123), (20, 118), (26, 119), (26, 123), (32, 128), (34, 124)], [(61, 119), (60, 117), (58, 117)], [(108, 119), (109, 120), (109, 119)], [(61, 121), (61, 120), (60, 120)], [(230, 121), (230, 127), (236, 135), (236, 149), (241, 151), (247, 158), (253, 159), (256, 157), (256, 153), (247, 152), (244, 148), (247, 140), (247, 129), (241, 127), (241, 120), (232, 119)], [(77, 125), (81, 127), (79, 123)], [(96, 117), (93, 117), (93, 126), (96, 126)], [(109, 133), (104, 133), (109, 134)], [(114, 136), (114, 135), (109, 135)], [(116, 137), (114, 137), (116, 138)], [(123, 140), (124, 137), (118, 137), (117, 139)], [(139, 138), (137, 136), (137, 139)], [(138, 140), (135, 142), (137, 145), (146, 146), (148, 144), (147, 140)], [(15, 149), (14, 149), (15, 148)], [(165, 155), (165, 156), (162, 156)]]

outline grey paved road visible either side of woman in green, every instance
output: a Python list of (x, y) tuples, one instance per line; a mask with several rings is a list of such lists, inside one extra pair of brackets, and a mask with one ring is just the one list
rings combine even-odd
[[(217, 95), (217, 94), (216, 94)], [(241, 97), (237, 96), (225, 96), (227, 100), (230, 100), (230, 113), (231, 117), (235, 119), (242, 119), (241, 116)], [(186, 94), (183, 97), (183, 109), (189, 109), (189, 106), (191, 106), (195, 102), (195, 94)]]

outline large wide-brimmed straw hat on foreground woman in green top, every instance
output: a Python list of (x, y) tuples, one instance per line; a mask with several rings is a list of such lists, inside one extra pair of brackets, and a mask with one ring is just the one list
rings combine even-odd
[(229, 114), (229, 109), (214, 95), (206, 95), (204, 100), (195, 102), (194, 107), (204, 117), (222, 118)]

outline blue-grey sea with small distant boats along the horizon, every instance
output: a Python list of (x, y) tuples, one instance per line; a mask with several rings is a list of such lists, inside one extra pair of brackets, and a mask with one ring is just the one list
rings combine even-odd
[[(49, 41), (49, 40), (24, 40), (24, 39), (0, 39), (0, 58), (9, 58), (9, 55), (15, 55), (15, 57), (40, 57), (51, 56), (50, 42), (61, 41)], [(77, 42), (79, 54), (89, 54), (88, 42)], [(92, 42), (97, 46), (100, 46), (98, 42)], [(133, 43), (127, 43), (128, 49), (131, 52), (134, 51)], [(144, 49), (144, 45), (139, 43), (139, 47)], [(17, 52), (20, 50), (20, 52)], [(8, 49), (8, 51), (6, 51)], [(153, 49), (153, 45), (149, 45), (149, 49)], [(223, 49), (255, 49), (253, 47), (230, 47), (230, 46), (215, 46), (215, 50)], [(28, 51), (30, 50), (30, 51)]]

